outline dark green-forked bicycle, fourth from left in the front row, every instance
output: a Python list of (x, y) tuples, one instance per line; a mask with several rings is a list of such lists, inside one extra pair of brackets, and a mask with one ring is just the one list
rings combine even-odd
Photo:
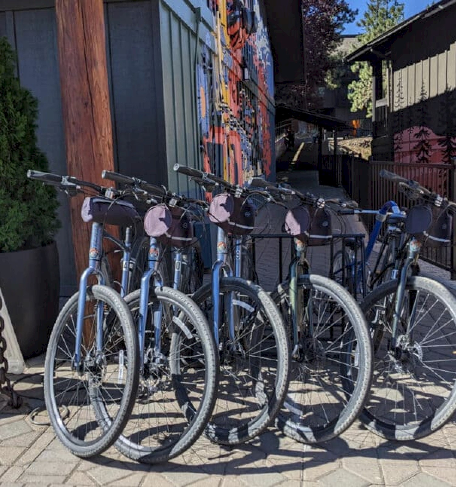
[(372, 348), (366, 320), (348, 291), (312, 274), (306, 260), (307, 246), (327, 242), (331, 235), (330, 215), (322, 212), (320, 221), (318, 213), (325, 200), (263, 179), (254, 178), (250, 185), (276, 195), (276, 203), (277, 195), (299, 202), (284, 225), (295, 257), (287, 280), (272, 293), (292, 342), (290, 382), (276, 426), (299, 442), (328, 441), (349, 428), (368, 394)]

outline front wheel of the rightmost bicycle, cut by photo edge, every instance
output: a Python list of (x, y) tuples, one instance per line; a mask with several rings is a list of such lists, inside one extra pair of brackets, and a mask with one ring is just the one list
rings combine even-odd
[(438, 430), (456, 411), (456, 299), (436, 281), (408, 278), (393, 340), (397, 288), (386, 282), (361, 303), (374, 372), (360, 419), (384, 438), (410, 440)]

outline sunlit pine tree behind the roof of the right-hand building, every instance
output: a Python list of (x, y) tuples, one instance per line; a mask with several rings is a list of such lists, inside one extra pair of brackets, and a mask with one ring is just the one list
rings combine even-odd
[[(362, 34), (357, 37), (355, 48), (380, 36), (403, 20), (404, 4), (398, 0), (368, 0), (363, 18), (357, 22)], [(351, 71), (357, 74), (348, 87), (348, 98), (351, 100), (351, 111), (367, 110), (372, 116), (372, 68), (366, 61), (356, 62)]]

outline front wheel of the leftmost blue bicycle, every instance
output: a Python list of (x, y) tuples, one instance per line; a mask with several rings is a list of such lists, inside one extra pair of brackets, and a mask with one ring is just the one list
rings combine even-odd
[[(91, 457), (121, 433), (138, 387), (138, 341), (121, 297), (106, 286), (87, 290), (80, 365), (73, 366), (79, 293), (55, 322), (44, 370), (44, 397), (55, 434), (74, 455)], [(103, 322), (97, 319), (101, 307)], [(97, 331), (103, 332), (98, 349)]]

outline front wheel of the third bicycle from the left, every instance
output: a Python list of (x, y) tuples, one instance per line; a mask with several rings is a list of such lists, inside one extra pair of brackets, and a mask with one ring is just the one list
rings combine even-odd
[[(212, 286), (203, 286), (193, 300), (213, 322)], [(222, 278), (219, 300), (220, 384), (206, 434), (214, 442), (236, 445), (262, 433), (279, 411), (288, 384), (289, 346), (283, 318), (260, 286)]]

